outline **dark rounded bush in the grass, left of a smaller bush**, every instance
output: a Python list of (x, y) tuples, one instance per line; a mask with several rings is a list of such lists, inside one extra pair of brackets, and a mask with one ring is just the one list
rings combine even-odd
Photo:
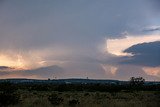
[(63, 103), (63, 98), (62, 97), (58, 97), (57, 94), (52, 94), (48, 97), (48, 100), (51, 102), (51, 104), (53, 105), (59, 105), (61, 103)]

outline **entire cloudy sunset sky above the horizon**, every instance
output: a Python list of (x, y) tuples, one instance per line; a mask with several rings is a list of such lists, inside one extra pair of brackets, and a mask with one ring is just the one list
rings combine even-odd
[(159, 0), (0, 0), (0, 78), (160, 80)]

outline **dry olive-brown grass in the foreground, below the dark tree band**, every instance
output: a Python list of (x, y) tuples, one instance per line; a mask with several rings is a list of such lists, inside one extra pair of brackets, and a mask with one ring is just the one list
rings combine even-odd
[[(48, 91), (22, 91), (20, 102), (8, 107), (159, 107), (159, 91), (134, 92), (48, 92)], [(63, 99), (58, 104), (52, 104), (48, 97)], [(55, 97), (56, 96), (56, 97)], [(78, 103), (73, 100), (78, 101)], [(70, 102), (73, 101), (71, 104)], [(53, 101), (55, 102), (55, 101)]]

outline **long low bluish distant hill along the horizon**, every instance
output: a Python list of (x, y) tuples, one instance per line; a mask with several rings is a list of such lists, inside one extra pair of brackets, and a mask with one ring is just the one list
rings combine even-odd
[[(52, 80), (40, 80), (40, 79), (26, 79), (26, 78), (9, 78), (9, 79), (0, 79), (2, 82), (11, 82), (11, 83), (33, 83), (33, 84), (127, 84), (129, 81), (120, 81), (120, 80), (102, 80), (102, 79), (52, 79)], [(160, 84), (160, 82), (146, 81), (145, 84)]]

